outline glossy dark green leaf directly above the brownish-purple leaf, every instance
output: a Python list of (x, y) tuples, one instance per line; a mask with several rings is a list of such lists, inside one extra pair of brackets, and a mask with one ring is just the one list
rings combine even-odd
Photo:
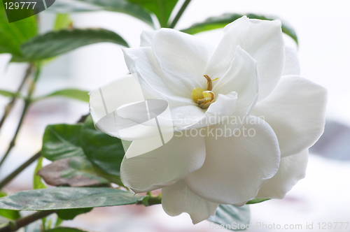
[(43, 135), (41, 154), (46, 159), (55, 161), (67, 157), (85, 157), (80, 147), (82, 124), (56, 124), (46, 126)]

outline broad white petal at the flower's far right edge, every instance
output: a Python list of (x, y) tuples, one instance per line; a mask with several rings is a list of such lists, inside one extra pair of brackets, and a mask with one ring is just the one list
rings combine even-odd
[(264, 117), (279, 139), (281, 157), (297, 154), (323, 133), (327, 90), (297, 75), (281, 78), (274, 92), (256, 104), (252, 115)]

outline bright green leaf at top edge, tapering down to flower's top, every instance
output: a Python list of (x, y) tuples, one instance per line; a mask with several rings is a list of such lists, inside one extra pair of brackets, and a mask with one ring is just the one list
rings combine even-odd
[(131, 3), (135, 3), (157, 16), (160, 22), (160, 27), (167, 27), (169, 17), (176, 6), (178, 0), (128, 0)]

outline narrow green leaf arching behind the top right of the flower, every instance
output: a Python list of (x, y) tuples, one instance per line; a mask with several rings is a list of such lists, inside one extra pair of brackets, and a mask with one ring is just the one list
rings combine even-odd
[[(213, 29), (223, 28), (227, 24), (239, 19), (244, 15), (236, 14), (236, 13), (225, 13), (221, 16), (216, 17), (209, 17), (204, 22), (199, 22), (196, 24), (193, 24), (191, 27), (187, 29), (183, 29), (181, 31), (187, 33), (187, 34), (197, 34), (202, 31), (209, 31)], [(247, 17), (251, 19), (258, 19), (258, 20), (278, 20), (276, 17), (265, 17), (263, 15), (255, 15), (255, 14), (246, 14)], [(295, 43), (297, 43), (297, 34), (295, 33), (294, 29), (290, 27), (290, 25), (286, 22), (282, 21), (282, 31), (283, 33), (287, 34), (293, 40)]]

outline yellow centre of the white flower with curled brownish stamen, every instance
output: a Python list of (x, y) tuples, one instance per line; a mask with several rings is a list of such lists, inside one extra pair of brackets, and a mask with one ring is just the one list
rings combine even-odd
[(202, 109), (207, 109), (211, 103), (214, 102), (215, 94), (211, 92), (213, 89), (212, 81), (218, 80), (218, 78), (211, 80), (208, 75), (204, 75), (204, 78), (207, 78), (207, 90), (204, 90), (200, 87), (195, 87), (192, 90), (192, 99), (195, 103), (200, 106)]

